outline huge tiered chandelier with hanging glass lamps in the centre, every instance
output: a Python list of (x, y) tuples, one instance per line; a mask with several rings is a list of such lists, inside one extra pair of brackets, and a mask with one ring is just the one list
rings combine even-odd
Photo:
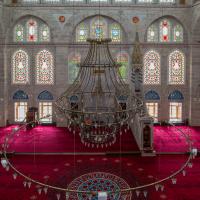
[(142, 101), (124, 82), (120, 65), (111, 56), (110, 39), (88, 39), (90, 48), (78, 66), (74, 83), (57, 99), (57, 109), (66, 117), (71, 132), (91, 147), (104, 147), (116, 141), (122, 128), (142, 114)]

